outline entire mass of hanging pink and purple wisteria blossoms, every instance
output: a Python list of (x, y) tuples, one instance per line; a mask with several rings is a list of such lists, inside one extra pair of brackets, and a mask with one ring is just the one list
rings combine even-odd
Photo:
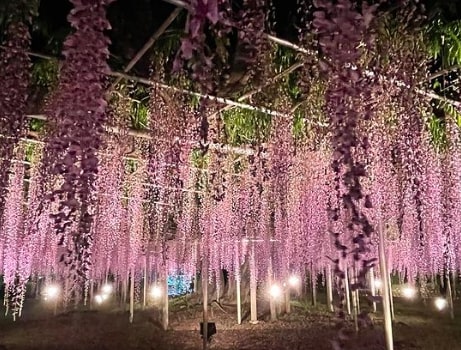
[[(21, 312), (27, 280), (38, 275), (61, 281), (78, 276), (69, 284), (69, 297), (79, 301), (87, 295), (88, 281), (102, 281), (108, 275), (126, 281), (141, 273), (145, 261), (150, 270), (166, 267), (169, 273), (193, 275), (200, 271), (201, 257), (206, 257), (210, 279), (220, 288), (222, 269), (232, 277), (245, 277), (242, 267), (250, 254), (255, 258), (249, 276), (253, 283), (267, 277), (284, 280), (291, 272), (303, 273), (306, 266), (321, 271), (338, 256), (338, 247), (347, 253), (342, 255), (347, 263), (353, 264), (351, 251), (357, 253), (355, 260), (366, 261), (375, 256), (376, 240), (370, 227), (376, 227), (378, 221), (386, 227), (390, 269), (403, 271), (410, 281), (418, 275), (461, 268), (457, 125), (447, 125), (448, 147), (434, 147), (420, 111), (408, 105), (415, 94), (405, 96), (408, 87), (388, 89), (381, 81), (387, 74), (405, 77), (405, 72), (422, 79), (416, 74), (419, 63), (389, 71), (375, 67), (382, 68), (382, 76), (370, 78), (364, 67), (353, 66), (359, 63), (361, 52), (342, 56), (344, 53), (333, 46), (335, 41), (327, 42), (331, 39), (330, 17), (337, 16), (360, 29), (354, 35), (349, 33), (349, 39), (356, 40), (352, 44), (365, 36), (366, 44), (373, 46), (373, 35), (367, 30), (373, 24), (374, 8), (362, 8), (361, 17), (357, 17), (358, 10), (346, 0), (338, 3), (348, 12), (331, 3), (317, 4), (323, 12), (317, 14), (314, 27), (322, 31), (320, 38), (325, 35), (320, 44), (328, 56), (321, 61), (320, 71), (333, 76), (325, 82), (332, 142), (297, 144), (293, 118), (276, 117), (268, 144), (261, 140), (250, 145), (252, 154), (236, 161), (208, 148), (210, 139), (224, 140), (219, 117), (207, 120), (203, 115), (215, 111), (215, 105), (194, 108), (187, 99), (169, 99), (157, 89), (151, 91), (151, 141), (147, 146), (139, 144), (138, 158), (126, 157), (124, 145), (117, 144), (120, 140), (105, 138), (109, 112), (103, 88), (108, 54), (104, 30), (109, 26), (105, 8), (110, 1), (97, 1), (93, 7), (84, 1), (72, 3), (75, 10), (70, 20), (76, 32), (66, 42), (61, 90), (48, 106), (52, 123), (45, 146), (36, 149), (30, 169), (26, 169), (24, 145), (17, 144), (19, 134), (10, 130), (5, 135), (9, 137), (2, 138), (2, 147), (7, 143), (2, 157), (9, 158), (11, 174), (5, 181), (9, 182), (8, 191), (2, 189), (0, 201), (5, 203), (4, 210), (0, 205), (0, 274), (14, 317)], [(260, 2), (248, 4), (258, 23), (263, 22)], [(199, 6), (201, 12), (192, 12), (191, 37), (183, 42), (179, 57), (187, 60), (195, 55), (195, 59), (206, 60), (211, 71), (208, 60), (212, 58), (200, 47), (205, 41), (200, 31), (207, 21), (219, 28), (230, 25), (228, 3), (197, 0), (191, 1), (191, 6)], [(253, 26), (251, 18), (240, 16), (245, 26)], [(2, 51), (6, 58), (1, 64), (26, 74), (28, 37), (23, 25), (17, 26), (10, 27), (11, 40), (23, 56), (13, 62)], [(262, 32), (258, 29), (250, 34), (260, 45)], [(346, 34), (345, 30), (342, 35)], [(260, 49), (250, 51), (254, 56)], [(89, 51), (93, 59), (86, 57)], [(253, 56), (250, 63), (260, 64)], [(79, 64), (86, 67), (85, 72)], [(263, 74), (261, 67), (253, 68), (253, 74)], [(202, 88), (210, 91), (213, 87), (205, 83), (203, 67), (193, 71), (201, 75)], [(5, 100), (14, 99), (22, 106), (23, 96), (18, 91), (25, 94), (21, 89), (26, 78), (8, 74), (8, 84), (15, 78), (21, 83), (20, 89), (2, 90), (2, 94), (10, 94), (0, 96), (2, 118), (13, 115)], [(161, 78), (158, 71), (154, 76)], [(357, 91), (351, 91), (353, 88)], [(366, 106), (360, 103), (361, 98), (367, 99)], [(292, 106), (284, 100), (279, 107), (290, 111)], [(24, 111), (17, 111), (21, 124)], [(398, 117), (397, 127), (391, 114)], [(194, 142), (199, 137), (207, 152), (198, 162), (193, 159), (197, 157)], [(14, 147), (18, 151), (13, 158)], [(344, 164), (347, 169), (342, 168)], [(335, 183), (335, 177), (341, 185)], [(46, 186), (41, 186), (43, 183)], [(359, 183), (369, 197), (354, 192)], [(338, 214), (334, 238), (341, 237), (341, 241), (335, 242), (329, 234), (328, 208), (339, 203), (338, 189), (355, 216)], [(377, 205), (369, 205), (369, 199)], [(354, 211), (360, 201), (363, 208)], [(368, 244), (368, 236), (367, 250), (361, 239)], [(76, 273), (70, 275), (69, 271)]]

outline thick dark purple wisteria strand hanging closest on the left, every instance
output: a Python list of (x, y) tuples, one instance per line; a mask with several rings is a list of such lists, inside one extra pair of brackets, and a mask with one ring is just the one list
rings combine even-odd
[(74, 29), (64, 43), (58, 90), (49, 107), (51, 134), (46, 156), (59, 185), (50, 199), (57, 234), (69, 239), (62, 260), (77, 280), (88, 280), (91, 264), (94, 185), (106, 121), (104, 76), (109, 71), (110, 28), (106, 6), (112, 0), (73, 0), (68, 20)]

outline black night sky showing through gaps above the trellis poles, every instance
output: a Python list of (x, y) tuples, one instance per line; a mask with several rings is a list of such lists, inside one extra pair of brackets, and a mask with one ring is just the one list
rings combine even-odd
[[(10, 0), (0, 0), (10, 1)], [(234, 8), (241, 7), (243, 0), (234, 0)], [(298, 0), (302, 1), (302, 0)], [(296, 42), (296, 10), (297, 0), (272, 0), (277, 14), (276, 35)], [(306, 0), (312, 2), (312, 0)], [(391, 0), (387, 3), (399, 3)], [(434, 13), (436, 8), (442, 10), (443, 16), (449, 20), (461, 18), (461, 0), (425, 0), (428, 13)], [(39, 18), (33, 31), (33, 51), (58, 55), (61, 43), (70, 31), (66, 16), (72, 8), (68, 0), (41, 0)], [(112, 64), (124, 65), (144, 45), (148, 38), (173, 11), (175, 7), (162, 0), (117, 0), (109, 7), (109, 20), (112, 31)], [(186, 12), (183, 11), (176, 23), (170, 27), (181, 32), (184, 27)], [(140, 62), (144, 67), (146, 62)], [(118, 63), (117, 63), (118, 62)], [(138, 67), (139, 68), (139, 67)]]

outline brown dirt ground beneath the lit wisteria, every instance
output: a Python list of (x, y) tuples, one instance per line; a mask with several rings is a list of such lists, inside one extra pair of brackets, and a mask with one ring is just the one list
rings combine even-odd
[[(248, 321), (237, 325), (235, 310), (225, 307), (227, 313), (214, 310), (210, 321), (216, 322), (217, 334), (209, 349), (332, 349), (330, 339), (337, 335), (335, 316), (322, 307), (312, 308), (308, 303), (293, 303), (292, 313), (278, 321)], [(155, 309), (136, 311), (134, 322), (128, 313), (108, 307), (93, 311), (70, 311), (53, 315), (43, 302), (26, 305), (23, 317), (12, 322), (0, 317), (0, 350), (22, 349), (202, 349), (199, 334), (200, 307), (184, 308), (173, 305), (170, 329), (160, 327), (159, 312)], [(245, 314), (245, 312), (244, 312)], [(385, 349), (382, 319), (373, 317), (373, 327), (353, 332), (347, 349)], [(267, 316), (262, 315), (262, 319)], [(394, 323), (395, 350), (461, 350), (461, 325), (447, 314), (437, 313), (422, 304), (396, 304)]]

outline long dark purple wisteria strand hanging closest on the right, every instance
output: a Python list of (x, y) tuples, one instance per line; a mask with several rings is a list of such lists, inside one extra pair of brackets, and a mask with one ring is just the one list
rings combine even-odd
[[(351, 285), (351, 289), (357, 290), (366, 286), (366, 274), (373, 264), (373, 260), (365, 258), (373, 226), (364, 208), (371, 207), (371, 201), (362, 187), (365, 164), (357, 155), (368, 147), (367, 137), (358, 131), (359, 125), (371, 118), (371, 106), (364, 103), (370, 96), (371, 82), (360, 65), (362, 51), (359, 48), (373, 47), (374, 37), (369, 33), (369, 26), (376, 6), (363, 3), (359, 12), (349, 0), (337, 3), (319, 0), (315, 5), (318, 10), (314, 13), (313, 25), (324, 55), (320, 68), (329, 77), (326, 103), (331, 124), (332, 168), (336, 174), (335, 190), (341, 199), (339, 205), (332, 205), (329, 209), (330, 219), (335, 223), (342, 215), (346, 217), (346, 237), (342, 237), (341, 231), (333, 225), (331, 229), (335, 247), (340, 252), (340, 258), (334, 260), (335, 273), (343, 283), (345, 273), (341, 260), (351, 254), (358, 269), (357, 282)], [(343, 288), (340, 289), (342, 300)], [(345, 317), (343, 306), (341, 302), (340, 318)]]

